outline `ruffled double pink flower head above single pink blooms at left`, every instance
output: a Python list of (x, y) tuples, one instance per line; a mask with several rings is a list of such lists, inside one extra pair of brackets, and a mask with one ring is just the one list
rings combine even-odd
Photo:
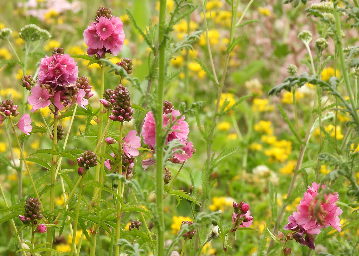
[(79, 68), (69, 54), (57, 54), (41, 59), (37, 84), (57, 86), (73, 86), (78, 78)]

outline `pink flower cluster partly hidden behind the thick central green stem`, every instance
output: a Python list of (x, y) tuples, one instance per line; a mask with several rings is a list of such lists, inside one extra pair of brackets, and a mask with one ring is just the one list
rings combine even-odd
[[(185, 116), (182, 115), (180, 111), (174, 110), (171, 102), (164, 101), (163, 127), (167, 128), (174, 123), (172, 124), (170, 132), (167, 134), (165, 143), (167, 145), (168, 142), (177, 139), (183, 144), (183, 146), (180, 147), (182, 152), (179, 153), (177, 148), (173, 150), (174, 154), (169, 160), (174, 164), (183, 163), (183, 161), (192, 157), (192, 154), (196, 152), (192, 142), (187, 141), (190, 129), (188, 128), (188, 123), (184, 120)], [(152, 111), (149, 111), (145, 116), (142, 136), (144, 143), (149, 145), (149, 148), (153, 149), (156, 146), (156, 124)], [(150, 158), (143, 160), (141, 163), (142, 167), (147, 169), (148, 166), (154, 163), (154, 160)]]

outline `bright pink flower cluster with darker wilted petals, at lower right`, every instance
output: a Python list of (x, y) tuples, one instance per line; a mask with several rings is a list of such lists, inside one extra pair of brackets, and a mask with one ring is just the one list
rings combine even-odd
[[(332, 226), (341, 231), (339, 215), (342, 210), (335, 203), (339, 200), (338, 193), (324, 194), (324, 201), (317, 198), (320, 183), (312, 183), (312, 187), (308, 186), (307, 192), (304, 193), (303, 199), (297, 206), (297, 210), (288, 218), (289, 223), (284, 226), (285, 230), (291, 230), (290, 239), (295, 239), (302, 245), (307, 245), (311, 249), (315, 249), (314, 238), (312, 234), (319, 234), (322, 228)], [(322, 188), (325, 188), (322, 185)], [(304, 238), (306, 234), (306, 238)]]

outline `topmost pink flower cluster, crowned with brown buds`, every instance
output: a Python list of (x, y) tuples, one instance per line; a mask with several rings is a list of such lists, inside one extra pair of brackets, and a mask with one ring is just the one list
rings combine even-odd
[(113, 16), (108, 8), (98, 9), (95, 22), (91, 22), (83, 36), (88, 46), (88, 55), (97, 54), (98, 58), (104, 58), (106, 52), (117, 56), (125, 42), (123, 23), (120, 18)]

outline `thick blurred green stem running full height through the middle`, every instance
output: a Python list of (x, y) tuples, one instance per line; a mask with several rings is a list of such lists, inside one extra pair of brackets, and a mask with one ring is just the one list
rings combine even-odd
[(165, 80), (165, 51), (166, 51), (166, 0), (160, 0), (159, 8), (159, 72), (157, 87), (157, 113), (156, 113), (156, 208), (158, 214), (157, 225), (157, 255), (164, 255), (164, 214), (163, 214), (163, 88)]

